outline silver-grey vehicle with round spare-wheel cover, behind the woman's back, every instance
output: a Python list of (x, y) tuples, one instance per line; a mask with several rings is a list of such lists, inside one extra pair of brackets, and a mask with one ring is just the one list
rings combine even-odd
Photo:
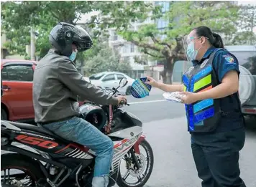
[(256, 46), (226, 46), (239, 61), (239, 98), (244, 115), (256, 117)]

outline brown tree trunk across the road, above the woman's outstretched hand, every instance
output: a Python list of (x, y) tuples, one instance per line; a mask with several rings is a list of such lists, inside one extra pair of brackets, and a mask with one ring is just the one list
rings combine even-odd
[(174, 62), (172, 57), (167, 57), (165, 64), (164, 64), (164, 69), (163, 72), (161, 72), (161, 75), (163, 77), (163, 83), (171, 85), (173, 84), (173, 67), (174, 67)]

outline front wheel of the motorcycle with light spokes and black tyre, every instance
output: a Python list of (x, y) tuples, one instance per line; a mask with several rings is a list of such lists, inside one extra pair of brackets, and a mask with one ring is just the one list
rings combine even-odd
[[(152, 148), (146, 140), (140, 143), (140, 154), (134, 153), (131, 149), (120, 164), (119, 174), (116, 183), (120, 187), (142, 187), (150, 178), (154, 165), (154, 156)], [(133, 153), (132, 153), (133, 152)], [(137, 164), (134, 162), (134, 157)]]

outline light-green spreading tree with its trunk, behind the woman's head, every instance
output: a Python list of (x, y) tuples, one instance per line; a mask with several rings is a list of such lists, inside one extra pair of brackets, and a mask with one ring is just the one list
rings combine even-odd
[[(157, 29), (157, 24), (144, 24), (137, 31), (119, 28), (119, 34), (129, 42), (142, 48), (142, 52), (155, 59), (164, 59), (163, 81), (171, 83), (174, 63), (178, 59), (186, 59), (183, 52), (182, 37), (191, 29), (206, 25), (213, 32), (229, 37), (237, 29), (234, 21), (237, 19), (238, 7), (229, 1), (175, 1), (170, 2), (170, 10), (164, 14), (159, 7), (151, 11), (152, 20), (164, 19), (168, 27)], [(150, 15), (150, 12), (148, 12)]]

